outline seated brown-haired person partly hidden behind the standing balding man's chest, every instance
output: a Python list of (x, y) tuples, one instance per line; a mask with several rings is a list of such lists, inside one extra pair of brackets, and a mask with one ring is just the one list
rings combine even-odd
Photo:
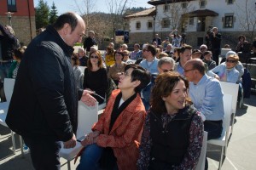
[(73, 54), (71, 58), (71, 64), (73, 66), (73, 74), (74, 74), (76, 85), (77, 87), (83, 89), (84, 73), (79, 68), (79, 57), (77, 54)]

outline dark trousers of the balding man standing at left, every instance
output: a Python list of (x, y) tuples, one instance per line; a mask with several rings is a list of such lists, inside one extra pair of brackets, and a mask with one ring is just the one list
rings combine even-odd
[(59, 152), (61, 142), (54, 139), (33, 139), (23, 137), (30, 149), (33, 167), (36, 170), (60, 170), (61, 162)]

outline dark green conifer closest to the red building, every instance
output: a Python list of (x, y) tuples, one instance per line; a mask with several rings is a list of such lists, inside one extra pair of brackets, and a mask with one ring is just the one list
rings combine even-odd
[(49, 25), (49, 6), (44, 0), (39, 0), (36, 7), (36, 28), (42, 28)]

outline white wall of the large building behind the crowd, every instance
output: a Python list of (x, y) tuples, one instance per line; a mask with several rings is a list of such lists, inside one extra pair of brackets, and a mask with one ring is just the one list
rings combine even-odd
[[(197, 1), (189, 1), (189, 11), (195, 11), (200, 9), (199, 0)], [(249, 20), (254, 20), (256, 18), (256, 7), (254, 0), (247, 1), (247, 12), (249, 13), (248, 17)], [(180, 3), (179, 3), (180, 4)], [(172, 5), (172, 4), (170, 4)], [(217, 26), (218, 31), (223, 35), (222, 45), (228, 43), (230, 44), (231, 48), (236, 47), (237, 37), (239, 35), (244, 34), (247, 37), (249, 42), (252, 41), (253, 37), (249, 36), (247, 30), (245, 30), (246, 26), (246, 10), (245, 10), (245, 0), (235, 0), (233, 4), (227, 4), (226, 0), (207, 0), (207, 5), (205, 8), (202, 9), (209, 9), (216, 13), (218, 16), (206, 17), (206, 29), (209, 26)], [(157, 7), (157, 16), (155, 18), (155, 29), (148, 30), (147, 29), (147, 20), (153, 19), (153, 17), (137, 17), (132, 18), (130, 20), (130, 42), (149, 42), (152, 40), (152, 35), (158, 33), (162, 40), (165, 37), (168, 37), (169, 33), (172, 31), (170, 28), (162, 28), (160, 20), (165, 18), (168, 13), (164, 12), (164, 4), (158, 5)], [(188, 12), (189, 12), (188, 11)], [(225, 14), (234, 14), (234, 26), (232, 28), (224, 28), (223, 17)], [(171, 15), (171, 14), (170, 14)], [(170, 16), (169, 15), (169, 16)], [(170, 16), (171, 17), (171, 16)], [(250, 18), (251, 17), (251, 18)], [(142, 29), (136, 29), (136, 22), (140, 21)], [(186, 25), (185, 33), (187, 35), (187, 43), (192, 45), (193, 47), (197, 47), (197, 40), (199, 37), (203, 38), (206, 35), (206, 31), (198, 32), (197, 29), (197, 17), (194, 17), (194, 24), (193, 25)], [(180, 30), (180, 29), (179, 29)], [(250, 27), (250, 31), (253, 31), (253, 27)], [(254, 30), (255, 31), (255, 30)], [(151, 32), (151, 33), (150, 33)], [(150, 37), (151, 35), (151, 37)], [(254, 34), (256, 37), (256, 34)]]

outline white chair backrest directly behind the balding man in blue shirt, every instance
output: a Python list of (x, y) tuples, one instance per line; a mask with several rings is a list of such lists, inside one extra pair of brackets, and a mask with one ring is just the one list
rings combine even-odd
[[(224, 103), (224, 121), (223, 121), (223, 133), (226, 133), (226, 138), (229, 138), (230, 134), (230, 120), (232, 115), (232, 99), (231, 94), (224, 94), (223, 103)], [(228, 139), (226, 139), (228, 141)]]

